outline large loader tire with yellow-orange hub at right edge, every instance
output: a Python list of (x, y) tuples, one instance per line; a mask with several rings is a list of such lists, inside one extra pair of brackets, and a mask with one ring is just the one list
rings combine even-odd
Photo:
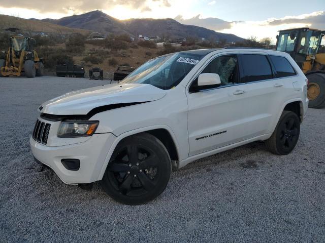
[(325, 107), (325, 73), (312, 73), (307, 75), (309, 108)]

